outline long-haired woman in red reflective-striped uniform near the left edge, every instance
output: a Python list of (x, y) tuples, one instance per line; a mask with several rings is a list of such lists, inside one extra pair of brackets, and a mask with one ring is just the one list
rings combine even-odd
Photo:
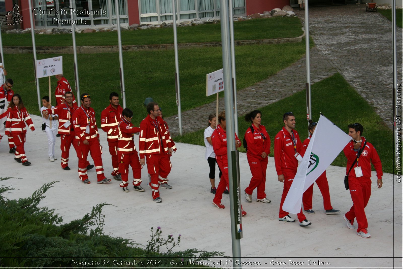
[(5, 133), (8, 137), (12, 136), (14, 139), (16, 146), (14, 159), (19, 163), (22, 162), (23, 166), (29, 166), (31, 163), (27, 160), (24, 150), (25, 134), (27, 133), (25, 123), (27, 123), (28, 127), (31, 128), (31, 131), (34, 131), (35, 127), (33, 126), (32, 119), (18, 93), (12, 96), (12, 102), (10, 102), (6, 113), (7, 120)]

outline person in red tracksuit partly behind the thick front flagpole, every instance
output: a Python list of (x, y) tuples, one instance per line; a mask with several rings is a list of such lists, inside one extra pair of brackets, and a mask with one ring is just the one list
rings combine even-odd
[[(221, 203), (222, 194), (224, 193), (225, 187), (229, 189), (225, 111), (221, 112), (218, 115), (218, 122), (220, 124), (217, 125), (217, 128), (211, 135), (211, 142), (213, 144), (214, 153), (216, 154), (218, 167), (221, 169), (222, 172), (222, 177), (220, 183), (218, 184), (216, 195), (214, 196), (212, 204), (218, 207), (219, 209), (224, 209), (225, 207)], [(236, 133), (235, 133), (235, 147), (237, 148), (241, 147), (241, 141), (239, 140)], [(245, 216), (246, 212), (242, 210), (241, 215)]]

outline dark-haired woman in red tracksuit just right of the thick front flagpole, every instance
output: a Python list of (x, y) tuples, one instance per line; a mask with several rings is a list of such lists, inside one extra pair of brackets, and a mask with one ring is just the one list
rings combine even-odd
[(251, 122), (251, 126), (245, 132), (245, 141), (247, 142), (246, 156), (252, 173), (249, 186), (245, 189), (245, 198), (246, 201), (252, 202), (252, 192), (257, 188), (256, 201), (270, 203), (264, 192), (266, 189), (267, 155), (270, 154), (270, 137), (266, 128), (260, 124), (262, 112), (253, 110), (245, 115), (245, 120)]

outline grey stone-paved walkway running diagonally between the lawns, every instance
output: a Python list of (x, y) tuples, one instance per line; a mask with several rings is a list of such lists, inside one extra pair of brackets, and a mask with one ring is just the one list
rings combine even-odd
[[(310, 51), (311, 83), (335, 72), (374, 106), (385, 124), (393, 126), (392, 24), (377, 12), (365, 12), (365, 5), (310, 8), (310, 35), (316, 46)], [(303, 11), (295, 10), (305, 22)], [(402, 33), (397, 30), (397, 44)], [(399, 45), (398, 45), (399, 46)], [(398, 78), (402, 77), (402, 52), (397, 48)], [(292, 74), (292, 77), (290, 77)], [(267, 106), (305, 89), (305, 57), (251, 87), (238, 90), (237, 108), (242, 115)], [(253, 96), (253, 100), (251, 99)], [(253, 105), (252, 105), (253, 104)], [(224, 98), (219, 100), (224, 108)], [(183, 132), (205, 128), (204, 122), (216, 111), (212, 102), (182, 113)], [(165, 118), (172, 134), (179, 134), (177, 115)]]

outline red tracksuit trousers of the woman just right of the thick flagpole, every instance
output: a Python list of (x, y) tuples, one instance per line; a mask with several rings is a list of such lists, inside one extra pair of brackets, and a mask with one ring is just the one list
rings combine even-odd
[(253, 156), (247, 155), (249, 168), (251, 169), (252, 178), (249, 186), (245, 189), (245, 192), (249, 195), (252, 194), (253, 190), (258, 188), (258, 199), (266, 198), (266, 170), (268, 158), (260, 160)]

